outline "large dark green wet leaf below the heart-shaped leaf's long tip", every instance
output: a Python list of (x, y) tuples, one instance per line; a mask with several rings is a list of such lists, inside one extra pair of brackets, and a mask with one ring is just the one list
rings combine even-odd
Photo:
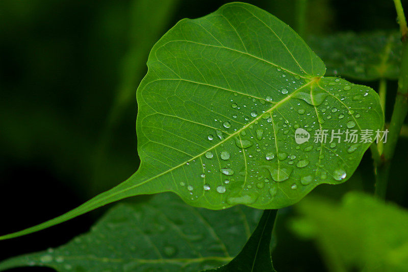
[(199, 271), (232, 260), (260, 216), (260, 210), (243, 206), (193, 208), (175, 194), (160, 194), (145, 203), (118, 204), (89, 233), (57, 249), (6, 260), (0, 270)]

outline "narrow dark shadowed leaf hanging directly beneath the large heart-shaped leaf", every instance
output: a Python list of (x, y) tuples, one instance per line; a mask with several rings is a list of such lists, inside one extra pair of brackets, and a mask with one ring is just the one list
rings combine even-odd
[(270, 244), (277, 210), (264, 210), (257, 228), (249, 237), (242, 251), (228, 264), (206, 272), (271, 272)]

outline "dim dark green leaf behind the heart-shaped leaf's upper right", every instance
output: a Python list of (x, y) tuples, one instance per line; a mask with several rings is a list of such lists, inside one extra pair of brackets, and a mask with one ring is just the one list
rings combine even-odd
[(308, 44), (326, 64), (328, 76), (361, 81), (398, 79), (402, 48), (398, 32), (311, 36)]

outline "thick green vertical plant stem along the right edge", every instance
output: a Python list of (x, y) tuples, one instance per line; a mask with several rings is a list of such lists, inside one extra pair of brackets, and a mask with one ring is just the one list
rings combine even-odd
[(386, 197), (391, 160), (394, 156), (403, 122), (408, 113), (408, 28), (400, 0), (394, 0), (394, 4), (401, 31), (402, 57), (397, 97), (395, 98), (394, 110), (391, 116), (390, 127), (388, 128), (387, 143), (384, 144), (384, 151), (381, 154), (381, 160), (377, 167), (375, 195), (380, 199), (385, 199)]

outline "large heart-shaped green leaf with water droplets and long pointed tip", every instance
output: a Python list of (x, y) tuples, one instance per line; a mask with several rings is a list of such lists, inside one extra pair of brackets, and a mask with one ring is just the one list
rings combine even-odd
[[(138, 171), (65, 215), (0, 239), (144, 193), (172, 191), (209, 209), (289, 206), (321, 183), (347, 180), (370, 145), (314, 142), (315, 131), (375, 131), (384, 121), (375, 91), (323, 78), (323, 62), (293, 30), (249, 4), (181, 20), (147, 64), (137, 90)], [(296, 130), (309, 141), (297, 143)]]

